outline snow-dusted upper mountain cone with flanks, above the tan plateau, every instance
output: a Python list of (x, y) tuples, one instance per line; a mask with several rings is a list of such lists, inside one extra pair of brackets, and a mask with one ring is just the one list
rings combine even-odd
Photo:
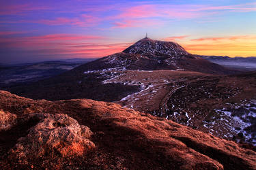
[(213, 74), (236, 73), (236, 71), (231, 71), (201, 57), (189, 54), (179, 44), (149, 38), (137, 41), (123, 52), (105, 56), (74, 70), (90, 71), (109, 68), (131, 70), (184, 69)]

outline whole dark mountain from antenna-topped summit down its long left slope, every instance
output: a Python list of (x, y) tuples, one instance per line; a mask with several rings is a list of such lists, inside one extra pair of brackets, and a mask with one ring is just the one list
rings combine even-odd
[[(167, 41), (141, 39), (119, 52), (86, 63), (54, 78), (2, 88), (33, 99), (77, 99), (119, 101), (139, 92), (140, 87), (129, 84), (104, 84), (105, 80), (128, 70), (184, 70), (210, 74), (237, 73), (203, 58), (189, 54), (180, 45)], [(131, 80), (132, 81), (132, 80)], [(102, 83), (103, 82), (103, 83)]]

